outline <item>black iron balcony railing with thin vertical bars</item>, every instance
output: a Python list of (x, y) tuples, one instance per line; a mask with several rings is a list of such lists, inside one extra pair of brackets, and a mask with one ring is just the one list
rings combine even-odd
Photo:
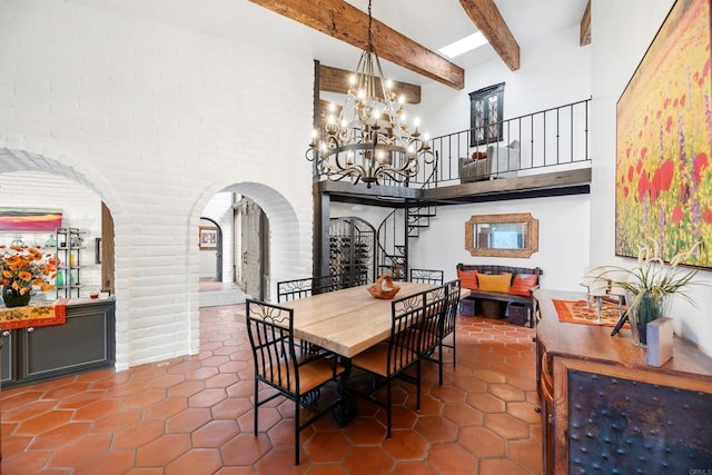
[[(436, 137), (431, 141), (436, 162), (422, 167), (408, 186), (435, 188), (590, 167), (590, 102), (585, 99)], [(485, 161), (473, 165), (475, 159)]]

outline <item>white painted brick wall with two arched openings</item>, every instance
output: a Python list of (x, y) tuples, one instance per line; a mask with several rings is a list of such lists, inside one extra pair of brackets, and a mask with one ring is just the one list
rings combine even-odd
[(0, 150), (111, 209), (117, 369), (198, 350), (197, 228), (226, 187), (269, 218), (273, 285), (310, 269), (310, 57), (60, 0), (0, 0)]

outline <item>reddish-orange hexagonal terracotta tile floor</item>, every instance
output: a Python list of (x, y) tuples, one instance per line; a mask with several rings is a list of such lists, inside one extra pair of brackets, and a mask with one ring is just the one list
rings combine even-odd
[(197, 356), (0, 393), (1, 473), (542, 473), (534, 330), (458, 316), (457, 367), (439, 386), (437, 366), (424, 364), (419, 413), (414, 386), (396, 386), (390, 441), (385, 412), (359, 399), (346, 428), (327, 415), (301, 432), (295, 467), (293, 403), (263, 406), (251, 433), (251, 353), (237, 311), (200, 309)]

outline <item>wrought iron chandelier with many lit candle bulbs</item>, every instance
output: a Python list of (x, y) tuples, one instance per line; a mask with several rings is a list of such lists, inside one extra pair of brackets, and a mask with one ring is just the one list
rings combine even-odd
[(418, 130), (418, 119), (411, 131), (403, 109), (405, 99), (396, 100), (392, 82), (384, 79), (373, 44), (370, 0), (368, 42), (349, 82), (338, 116), (336, 107), (329, 105), (325, 126), (312, 133), (306, 158), (316, 160), (318, 175), (335, 181), (349, 178), (354, 185), (363, 181), (370, 188), (384, 178), (408, 180), (417, 175), (419, 160), (434, 162), (427, 135), (421, 136)]

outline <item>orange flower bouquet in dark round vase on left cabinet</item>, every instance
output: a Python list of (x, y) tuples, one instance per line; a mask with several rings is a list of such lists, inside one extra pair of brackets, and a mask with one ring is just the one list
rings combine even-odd
[(28, 305), (32, 287), (39, 287), (41, 291), (55, 288), (50, 280), (56, 277), (56, 259), (51, 254), (44, 255), (33, 247), (0, 246), (0, 285), (4, 305)]

